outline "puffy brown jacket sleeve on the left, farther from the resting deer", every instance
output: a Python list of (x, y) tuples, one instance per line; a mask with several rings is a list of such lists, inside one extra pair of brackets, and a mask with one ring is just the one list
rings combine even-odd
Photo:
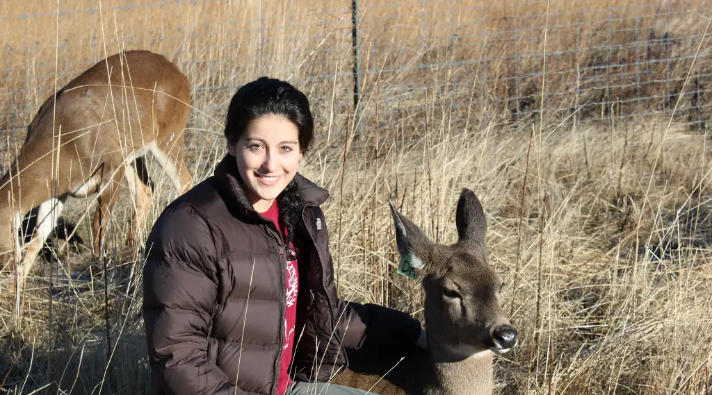
[(151, 374), (167, 394), (244, 395), (208, 357), (216, 251), (192, 207), (167, 208), (146, 242), (143, 318)]

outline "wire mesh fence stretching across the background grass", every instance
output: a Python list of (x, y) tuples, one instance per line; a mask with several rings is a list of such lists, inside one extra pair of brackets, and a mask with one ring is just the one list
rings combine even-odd
[(231, 95), (261, 75), (308, 92), (327, 146), (350, 124), (361, 133), (436, 127), (441, 117), (465, 129), (666, 124), (674, 112), (676, 125), (703, 130), (711, 112), (709, 1), (72, 0), (2, 9), (0, 130), (10, 146), (55, 87), (130, 49), (162, 53), (189, 76), (199, 110), (190, 149), (219, 138)]

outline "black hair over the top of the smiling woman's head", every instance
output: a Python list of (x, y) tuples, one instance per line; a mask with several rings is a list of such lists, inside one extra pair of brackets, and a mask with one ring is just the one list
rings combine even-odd
[(225, 124), (228, 144), (235, 144), (251, 121), (265, 115), (289, 119), (299, 131), (299, 149), (308, 151), (314, 136), (309, 99), (288, 82), (260, 77), (240, 87), (230, 101)]

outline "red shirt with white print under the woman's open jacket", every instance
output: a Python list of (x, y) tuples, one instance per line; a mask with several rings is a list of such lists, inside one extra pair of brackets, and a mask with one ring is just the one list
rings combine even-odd
[[(276, 200), (272, 206), (269, 207), (266, 212), (262, 212), (261, 215), (274, 222), (279, 232), (285, 237), (287, 236), (287, 229), (282, 229), (279, 223), (279, 208), (277, 207)], [(294, 251), (293, 244), (290, 244), (289, 248), (291, 251)], [(289, 377), (289, 367), (292, 363), (292, 352), (295, 337), (294, 328), (297, 318), (297, 292), (299, 290), (299, 274), (296, 256), (294, 256), (294, 259), (292, 260), (290, 260), (290, 256), (287, 256), (287, 264), (284, 269), (286, 271), (287, 279), (285, 284), (286, 310), (284, 312), (284, 343), (282, 345), (282, 361), (277, 384), (278, 395), (285, 394), (289, 385), (292, 383), (292, 379)]]

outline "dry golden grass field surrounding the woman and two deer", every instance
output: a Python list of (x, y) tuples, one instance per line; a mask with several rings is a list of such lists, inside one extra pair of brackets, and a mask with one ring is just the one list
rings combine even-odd
[[(2, 1), (0, 164), (55, 86), (122, 49), (188, 75), (195, 182), (224, 155), (237, 87), (287, 79), (313, 104), (303, 173), (330, 190), (341, 296), (422, 318), (386, 202), (454, 242), (471, 188), (520, 332), (497, 394), (712, 395), (711, 4), (491, 3), (360, 1), (353, 109), (350, 1)], [(156, 195), (151, 220), (176, 191)], [(93, 204), (68, 202), (71, 248), (48, 240), (21, 315), (0, 294), (0, 394), (147, 391), (133, 205), (122, 193), (105, 270), (88, 263)]]

